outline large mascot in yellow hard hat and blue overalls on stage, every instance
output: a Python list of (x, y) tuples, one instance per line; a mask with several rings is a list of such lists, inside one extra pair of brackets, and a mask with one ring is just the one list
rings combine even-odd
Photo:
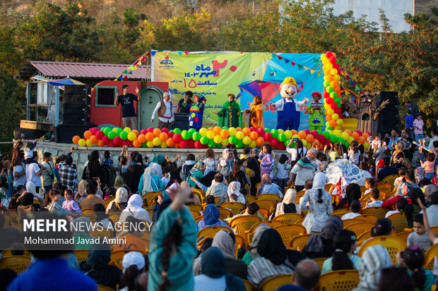
[(300, 106), (307, 104), (309, 99), (294, 101), (297, 96), (297, 82), (292, 77), (285, 78), (280, 89), (282, 99), (273, 104), (278, 112), (277, 129), (298, 130), (300, 127)]

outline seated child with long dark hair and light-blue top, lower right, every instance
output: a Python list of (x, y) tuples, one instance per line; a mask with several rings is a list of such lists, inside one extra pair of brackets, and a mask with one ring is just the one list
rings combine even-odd
[(356, 235), (351, 230), (341, 230), (333, 239), (336, 251), (324, 261), (321, 274), (337, 270), (359, 270), (359, 256), (353, 254), (357, 249)]

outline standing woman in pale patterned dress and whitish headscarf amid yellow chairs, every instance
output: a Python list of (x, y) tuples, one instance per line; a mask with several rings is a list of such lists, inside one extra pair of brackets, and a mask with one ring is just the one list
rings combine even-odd
[[(309, 209), (302, 225), (307, 233), (319, 233), (326, 224), (327, 219), (333, 213), (331, 207), (331, 194), (324, 190), (326, 185), (326, 174), (319, 172), (315, 174), (312, 189), (309, 189), (300, 202), (301, 211)], [(309, 202), (309, 206), (307, 206)]]

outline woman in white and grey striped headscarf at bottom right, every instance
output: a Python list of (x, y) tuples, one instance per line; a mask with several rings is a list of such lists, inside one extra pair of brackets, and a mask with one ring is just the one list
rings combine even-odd
[(381, 245), (365, 249), (359, 267), (360, 283), (353, 291), (376, 291), (379, 287), (381, 270), (392, 266), (388, 251)]

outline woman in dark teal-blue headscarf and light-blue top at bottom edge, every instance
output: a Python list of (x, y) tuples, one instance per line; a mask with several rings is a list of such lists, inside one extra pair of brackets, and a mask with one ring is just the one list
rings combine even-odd
[(209, 247), (201, 259), (201, 275), (196, 275), (194, 291), (245, 291), (242, 279), (227, 273), (225, 258), (218, 247)]

